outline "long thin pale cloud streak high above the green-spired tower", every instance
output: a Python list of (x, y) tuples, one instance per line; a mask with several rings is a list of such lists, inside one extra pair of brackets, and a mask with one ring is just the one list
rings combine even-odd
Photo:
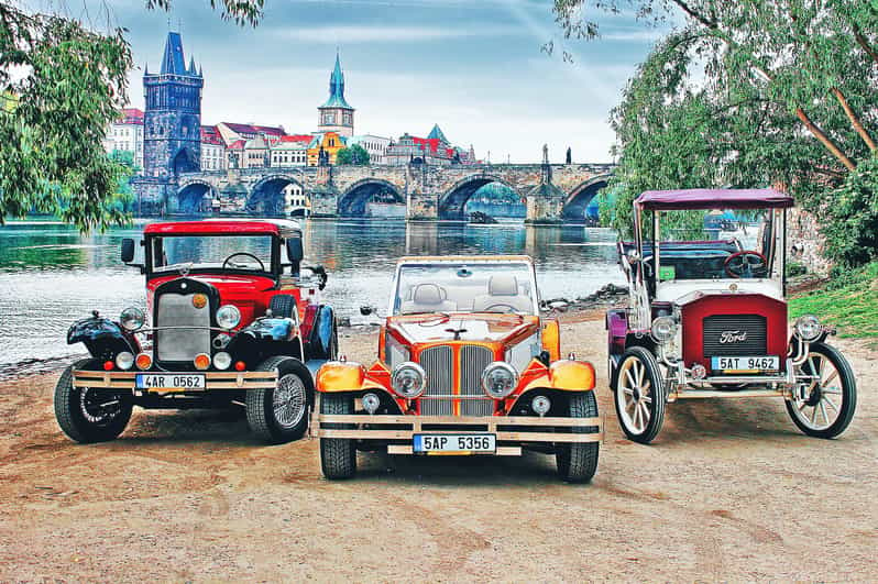
[(270, 34), (303, 43), (399, 43), (447, 38), (514, 36), (520, 29), (513, 26), (308, 26), (272, 29)]

